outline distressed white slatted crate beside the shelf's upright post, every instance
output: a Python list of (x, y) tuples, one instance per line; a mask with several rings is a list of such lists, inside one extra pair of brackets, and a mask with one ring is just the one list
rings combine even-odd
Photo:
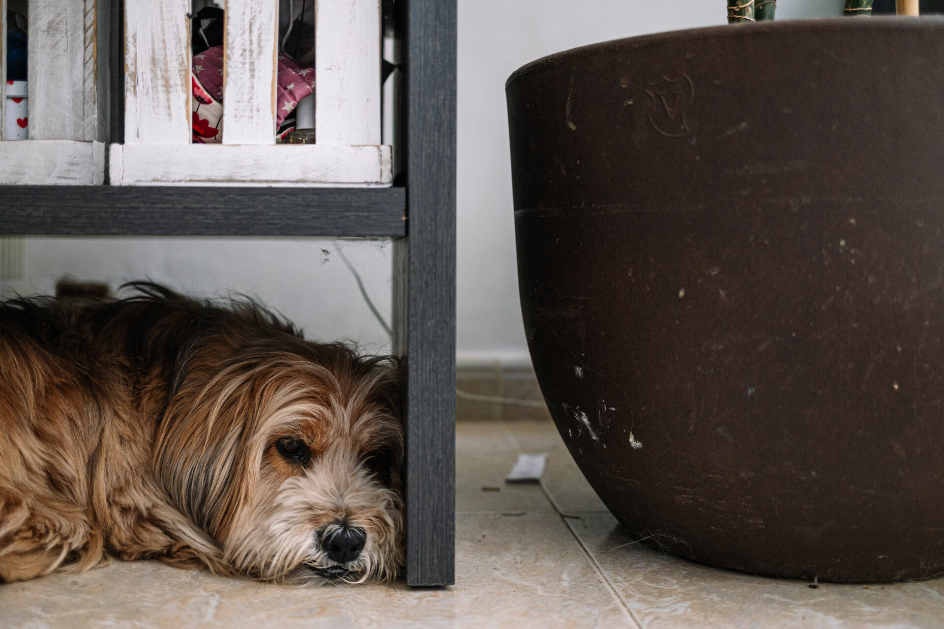
[(126, 0), (112, 185), (389, 186), (379, 0), (316, 0), (314, 144), (277, 144), (278, 0), (227, 0), (223, 136), (192, 143), (190, 0)]

